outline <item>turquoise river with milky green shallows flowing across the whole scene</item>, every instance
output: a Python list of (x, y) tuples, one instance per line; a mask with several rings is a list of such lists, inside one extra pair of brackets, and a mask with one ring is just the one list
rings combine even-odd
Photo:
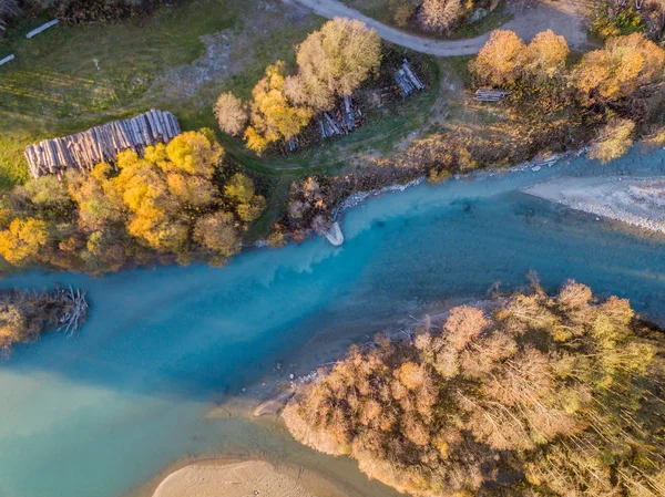
[(78, 336), (47, 334), (0, 361), (0, 496), (115, 497), (184, 456), (211, 453), (307, 459), (348, 475), (359, 494), (392, 495), (275, 424), (205, 414), (313, 336), (361, 339), (447, 299), (483, 297), (497, 282), (514, 289), (532, 269), (549, 290), (575, 278), (665, 321), (663, 238), (520, 193), (562, 174), (664, 175), (665, 152), (386, 195), (347, 213), (339, 248), (314, 239), (250, 250), (226, 268), (3, 280), (88, 288), (93, 308)]

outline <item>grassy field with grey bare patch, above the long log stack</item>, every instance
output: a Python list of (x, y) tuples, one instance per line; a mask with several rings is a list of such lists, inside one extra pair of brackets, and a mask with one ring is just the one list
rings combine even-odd
[(248, 93), (266, 64), (320, 23), (311, 15), (284, 22), (266, 6), (191, 0), (143, 19), (60, 25), (31, 40), (25, 32), (44, 19), (10, 25), (0, 54), (17, 59), (0, 68), (0, 187), (27, 178), (27, 144), (110, 118), (158, 106), (184, 128), (213, 127), (221, 91)]

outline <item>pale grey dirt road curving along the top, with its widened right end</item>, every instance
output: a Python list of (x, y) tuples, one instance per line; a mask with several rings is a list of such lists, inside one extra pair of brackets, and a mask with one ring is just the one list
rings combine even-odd
[[(438, 41), (381, 24), (345, 6), (339, 0), (285, 1), (299, 3), (327, 19), (338, 17), (358, 19), (368, 27), (374, 28), (383, 40), (430, 55), (471, 55), (478, 53), (490, 38), (490, 34), (485, 33), (466, 40)], [(540, 0), (536, 2), (524, 0), (513, 2), (510, 9), (514, 13), (514, 19), (507, 22), (502, 29), (512, 30), (525, 40), (531, 40), (539, 32), (551, 29), (556, 34), (565, 37), (572, 48), (579, 49), (586, 43), (583, 23), (584, 7), (581, 7), (580, 2), (575, 0)]]

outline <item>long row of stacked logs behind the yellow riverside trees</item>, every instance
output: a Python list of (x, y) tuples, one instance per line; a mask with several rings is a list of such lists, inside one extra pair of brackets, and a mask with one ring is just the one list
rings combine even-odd
[(146, 146), (168, 143), (178, 134), (175, 116), (153, 108), (131, 120), (112, 121), (75, 135), (28, 145), (25, 158), (34, 179), (45, 174), (61, 177), (68, 168), (90, 170), (99, 163), (114, 164), (122, 151), (143, 154)]

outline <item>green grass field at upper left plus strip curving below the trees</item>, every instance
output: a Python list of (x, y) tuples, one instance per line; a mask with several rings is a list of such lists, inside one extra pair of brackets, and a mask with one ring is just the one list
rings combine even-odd
[[(17, 59), (0, 68), (0, 188), (28, 177), (27, 144), (85, 130), (151, 107), (174, 112), (184, 130), (217, 131), (212, 105), (222, 91), (248, 97), (265, 66), (277, 59), (293, 63), (294, 45), (324, 20), (315, 15), (285, 22), (280, 13), (257, 15), (255, 0), (191, 0), (163, 8), (145, 19), (82, 27), (59, 25), (27, 40), (24, 33), (44, 19), (11, 25), (0, 56)], [(241, 37), (231, 53), (233, 71), (202, 83), (193, 95), (172, 97), (157, 84), (171, 68), (191, 64), (205, 53), (201, 38), (219, 31)], [(250, 33), (250, 34), (247, 34)], [(417, 55), (413, 55), (417, 56)], [(434, 81), (437, 64), (424, 68)], [(166, 84), (167, 86), (167, 84)], [(217, 132), (227, 154), (258, 173), (299, 176), (344, 170), (364, 153), (389, 153), (427, 121), (437, 97), (430, 91), (369, 113), (358, 132), (289, 156), (256, 157), (239, 139)]]

